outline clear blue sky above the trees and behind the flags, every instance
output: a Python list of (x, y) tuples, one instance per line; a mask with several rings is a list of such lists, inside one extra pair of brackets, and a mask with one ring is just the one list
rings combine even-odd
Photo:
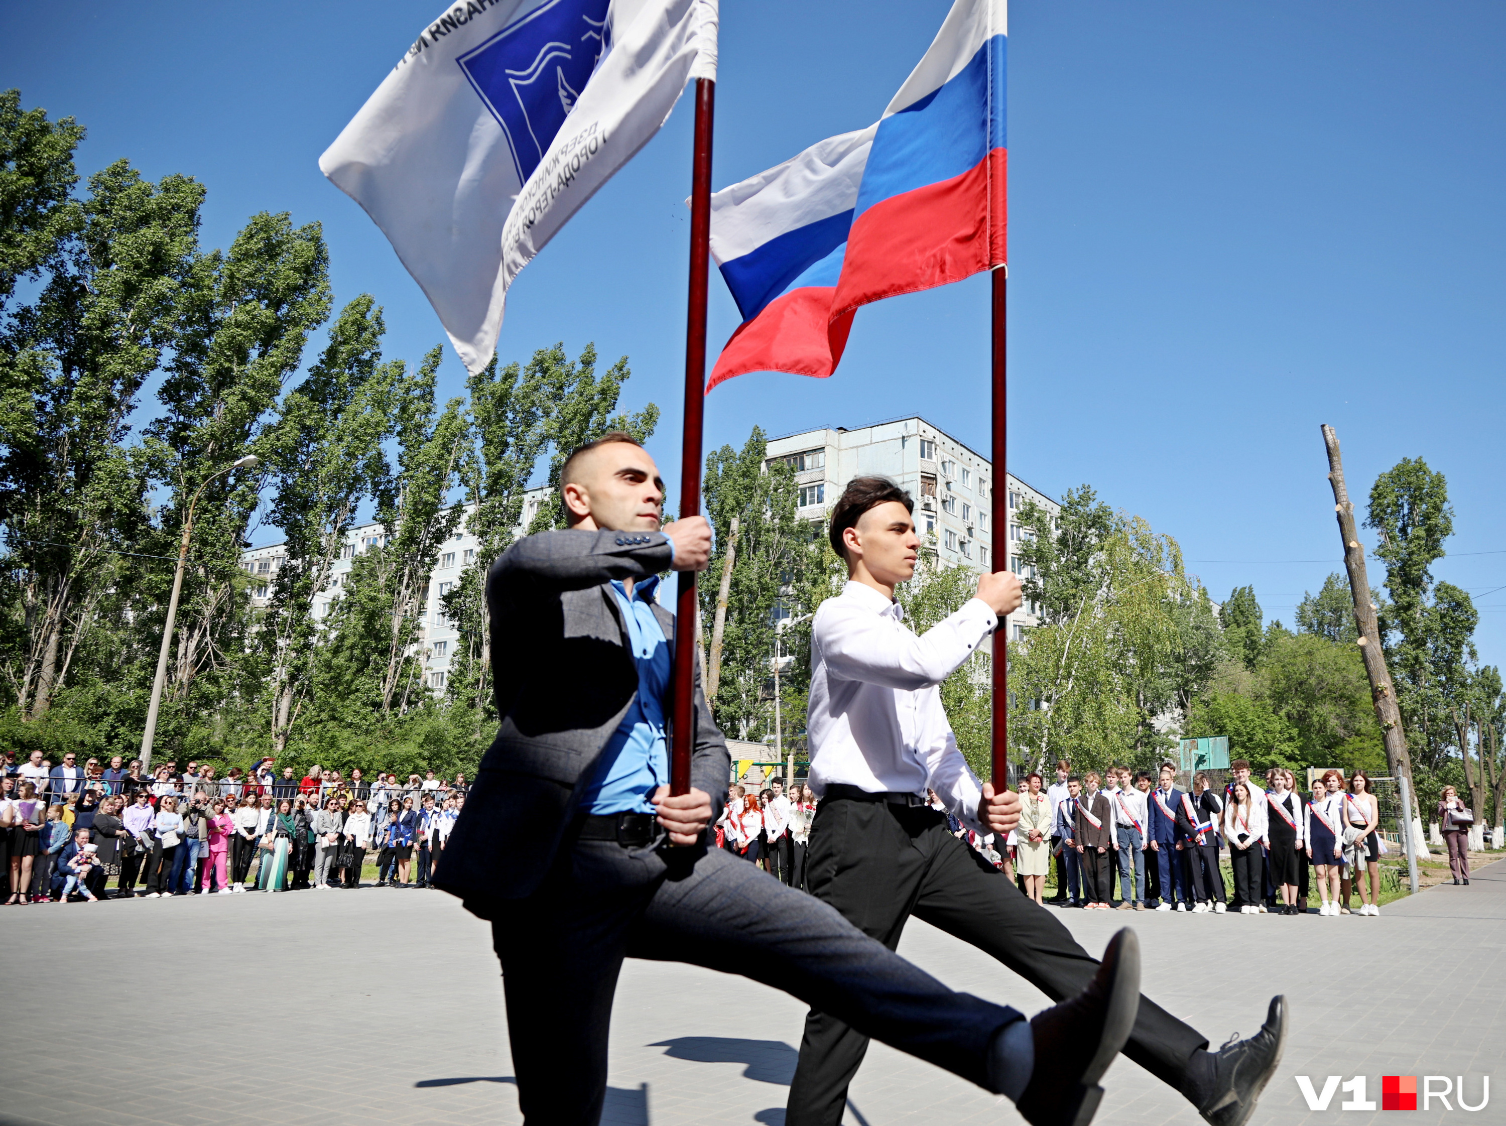
[[(128, 157), (203, 181), (206, 245), (262, 209), (319, 220), (337, 301), (373, 294), (389, 355), (417, 360), (437, 319), (316, 160), (438, 9), (11, 3), (0, 84), (89, 128), (86, 172)], [(872, 122), (946, 9), (723, 0), (715, 185)], [(1456, 509), (1435, 574), (1477, 596), (1482, 659), (1506, 659), (1506, 6), (1017, 0), (1009, 30), (1009, 468), (1053, 495), (1093, 485), (1175, 536), (1215, 598), (1253, 583), (1291, 623), (1340, 569), (1319, 423), (1358, 498), (1422, 456)], [(664, 408), (666, 468), (690, 123), (682, 102), (523, 272), (498, 343), (628, 355), (625, 405)], [(714, 348), (735, 325), (712, 278)], [(443, 378), (455, 393), (453, 355)], [(833, 379), (720, 387), (708, 449), (908, 414), (986, 449), (986, 408), (977, 277), (861, 310)]]

